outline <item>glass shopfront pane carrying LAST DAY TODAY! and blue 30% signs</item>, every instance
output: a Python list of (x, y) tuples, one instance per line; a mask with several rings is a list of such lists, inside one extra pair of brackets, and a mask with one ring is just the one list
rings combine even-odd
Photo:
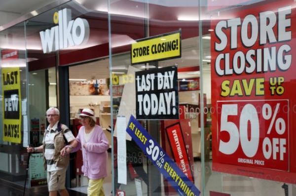
[(110, 1), (114, 193), (202, 191), (198, 12), (198, 1)]

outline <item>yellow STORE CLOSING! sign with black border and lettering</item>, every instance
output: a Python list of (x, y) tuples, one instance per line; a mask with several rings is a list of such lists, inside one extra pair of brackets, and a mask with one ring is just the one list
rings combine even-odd
[(132, 43), (132, 64), (181, 57), (181, 30), (136, 41)]

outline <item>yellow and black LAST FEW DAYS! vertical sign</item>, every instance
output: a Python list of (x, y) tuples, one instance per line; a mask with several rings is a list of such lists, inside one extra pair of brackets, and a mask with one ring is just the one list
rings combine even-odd
[(20, 69), (2, 69), (3, 141), (21, 143)]

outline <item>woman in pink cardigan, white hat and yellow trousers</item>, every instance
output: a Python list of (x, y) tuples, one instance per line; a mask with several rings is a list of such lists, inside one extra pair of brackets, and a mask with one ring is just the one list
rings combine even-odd
[(107, 176), (108, 139), (99, 125), (94, 112), (83, 109), (79, 114), (81, 124), (78, 135), (71, 145), (61, 151), (61, 155), (73, 153), (82, 148), (83, 166), (81, 171), (89, 179), (87, 195), (104, 196), (103, 182)]

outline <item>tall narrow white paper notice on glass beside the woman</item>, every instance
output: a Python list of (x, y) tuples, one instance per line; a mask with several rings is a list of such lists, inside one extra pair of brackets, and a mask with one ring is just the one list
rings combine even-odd
[(118, 183), (126, 185), (126, 118), (125, 116), (117, 116), (117, 168)]

